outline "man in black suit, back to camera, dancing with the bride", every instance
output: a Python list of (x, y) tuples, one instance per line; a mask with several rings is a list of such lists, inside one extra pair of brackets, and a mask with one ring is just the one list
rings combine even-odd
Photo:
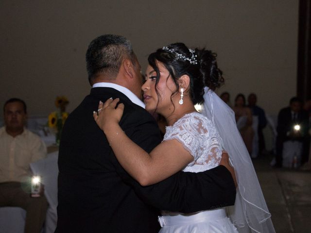
[(178, 172), (147, 187), (132, 179), (93, 111), (100, 100), (120, 98), (122, 130), (147, 152), (160, 143), (156, 122), (140, 100), (138, 60), (126, 38), (103, 35), (90, 43), (86, 64), (93, 88), (66, 120), (59, 148), (56, 233), (155, 233), (158, 210), (191, 213), (234, 204), (227, 163), (202, 173)]

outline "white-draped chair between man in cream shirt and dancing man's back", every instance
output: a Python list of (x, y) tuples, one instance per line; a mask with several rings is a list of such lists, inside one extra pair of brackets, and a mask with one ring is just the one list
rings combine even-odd
[(35, 175), (42, 177), (44, 194), (49, 202), (45, 221), (45, 233), (54, 233), (57, 223), (57, 176), (58, 151), (49, 153), (47, 158), (30, 164)]

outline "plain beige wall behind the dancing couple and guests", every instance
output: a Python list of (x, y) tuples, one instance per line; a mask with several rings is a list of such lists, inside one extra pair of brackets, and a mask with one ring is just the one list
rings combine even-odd
[(115, 33), (132, 41), (143, 70), (147, 55), (169, 43), (216, 51), (221, 91), (231, 101), (256, 92), (276, 115), (295, 95), (297, 27), (297, 0), (1, 0), (1, 113), (19, 97), (31, 116), (46, 116), (57, 95), (72, 111), (89, 92), (88, 43)]

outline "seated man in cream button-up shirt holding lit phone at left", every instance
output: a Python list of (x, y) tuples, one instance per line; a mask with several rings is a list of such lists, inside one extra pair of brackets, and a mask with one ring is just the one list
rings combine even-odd
[(26, 210), (25, 233), (41, 232), (48, 202), (42, 194), (32, 198), (30, 164), (46, 157), (40, 137), (25, 129), (27, 108), (23, 100), (12, 98), (3, 107), (4, 126), (0, 128), (0, 207)]

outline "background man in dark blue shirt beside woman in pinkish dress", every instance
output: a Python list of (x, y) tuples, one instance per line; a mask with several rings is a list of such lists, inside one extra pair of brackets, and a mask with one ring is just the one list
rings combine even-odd
[(267, 125), (266, 114), (262, 108), (260, 108), (257, 103), (257, 96), (255, 93), (248, 95), (248, 106), (253, 116), (258, 116), (258, 144), (259, 144), (259, 154), (265, 149), (264, 137), (262, 130)]

